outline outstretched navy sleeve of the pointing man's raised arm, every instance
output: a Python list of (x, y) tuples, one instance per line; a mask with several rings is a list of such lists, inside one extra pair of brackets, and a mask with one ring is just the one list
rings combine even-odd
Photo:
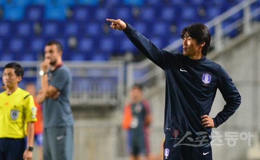
[(127, 27), (123, 31), (131, 42), (153, 63), (165, 69), (164, 56), (170, 55), (170, 52), (158, 48), (149, 39), (137, 32), (132, 25), (126, 23)]

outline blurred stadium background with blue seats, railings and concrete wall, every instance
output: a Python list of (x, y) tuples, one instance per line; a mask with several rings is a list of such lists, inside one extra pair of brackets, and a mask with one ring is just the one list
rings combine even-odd
[[(40, 88), (45, 43), (63, 44), (73, 75), (74, 159), (127, 159), (122, 110), (135, 83), (145, 86), (151, 104), (151, 151), (162, 152), (164, 72), (106, 18), (120, 18), (174, 52), (181, 51), (184, 26), (205, 23), (213, 35), (207, 57), (227, 70), (242, 95), (235, 115), (213, 129), (213, 158), (260, 159), (259, 0), (1, 0), (1, 75), (5, 64), (17, 61), (25, 68), (20, 87), (35, 82)], [(224, 104), (218, 93), (210, 116)]]

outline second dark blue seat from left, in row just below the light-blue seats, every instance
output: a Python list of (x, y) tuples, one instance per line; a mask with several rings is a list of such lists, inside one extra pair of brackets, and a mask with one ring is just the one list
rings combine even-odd
[(16, 23), (17, 36), (30, 37), (33, 33), (33, 23), (21, 21)]

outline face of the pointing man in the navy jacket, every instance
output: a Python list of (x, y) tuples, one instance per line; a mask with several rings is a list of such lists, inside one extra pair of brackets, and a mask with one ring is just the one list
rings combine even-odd
[(183, 54), (188, 57), (193, 57), (201, 54), (202, 46), (198, 44), (196, 39), (193, 39), (189, 34), (185, 34), (183, 39)]

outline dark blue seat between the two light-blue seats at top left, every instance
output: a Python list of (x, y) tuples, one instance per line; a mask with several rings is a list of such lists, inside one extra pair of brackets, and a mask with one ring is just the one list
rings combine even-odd
[(27, 6), (25, 9), (25, 19), (29, 21), (41, 21), (43, 19), (43, 6)]

